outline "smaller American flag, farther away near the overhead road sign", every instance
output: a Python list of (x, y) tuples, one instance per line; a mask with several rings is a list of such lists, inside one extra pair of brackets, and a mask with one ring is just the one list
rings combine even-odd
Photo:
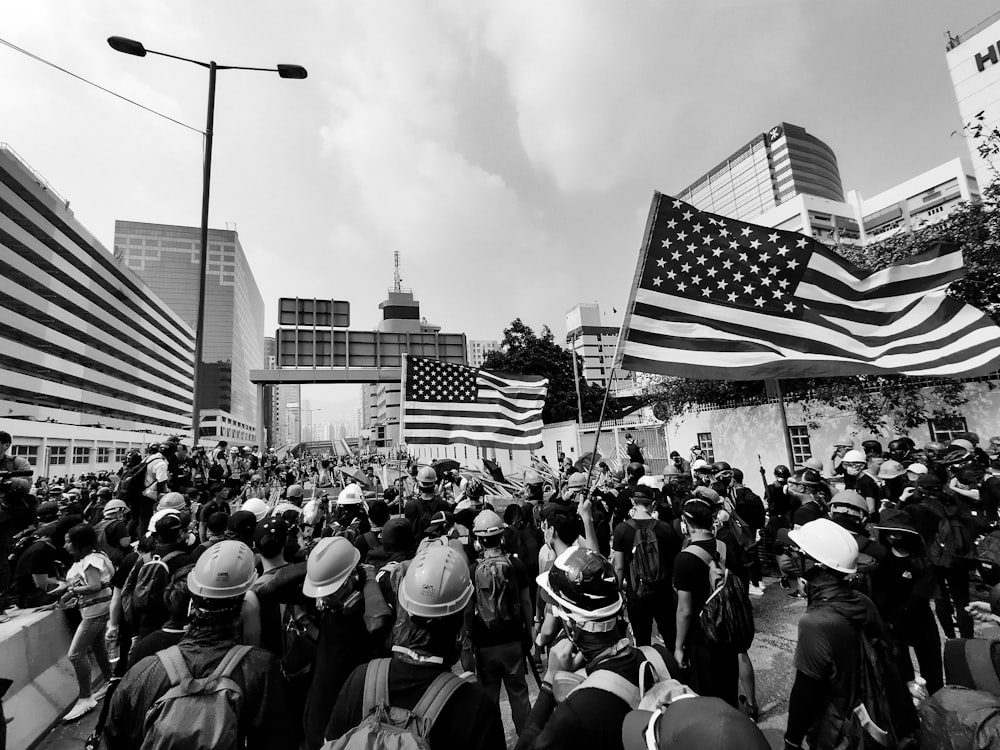
[(538, 450), (547, 378), (406, 357), (403, 440)]

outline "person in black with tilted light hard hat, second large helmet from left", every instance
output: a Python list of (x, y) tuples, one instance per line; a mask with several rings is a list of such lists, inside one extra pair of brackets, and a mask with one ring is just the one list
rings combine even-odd
[(312, 682), (303, 715), (305, 744), (310, 750), (322, 746), (330, 712), (348, 676), (377, 653), (377, 640), (365, 624), (363, 585), (368, 574), (360, 562), (361, 553), (345, 537), (320, 539), (309, 553), (302, 586), (302, 592), (315, 600), (319, 619), (311, 619), (314, 612), (293, 610), (295, 622), (285, 622), (289, 650), (307, 650), (307, 643), (291, 642), (289, 628), (296, 623), (302, 639), (315, 638)]

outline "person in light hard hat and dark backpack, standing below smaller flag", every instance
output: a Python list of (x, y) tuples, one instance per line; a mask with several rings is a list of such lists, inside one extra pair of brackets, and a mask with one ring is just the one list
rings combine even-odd
[(507, 690), (514, 728), (520, 733), (531, 711), (525, 675), (532, 626), (528, 575), (524, 563), (503, 548), (499, 515), (482, 511), (473, 535), (479, 558), (471, 571), (475, 593), (469, 638), (476, 676), (498, 705), (501, 684)]

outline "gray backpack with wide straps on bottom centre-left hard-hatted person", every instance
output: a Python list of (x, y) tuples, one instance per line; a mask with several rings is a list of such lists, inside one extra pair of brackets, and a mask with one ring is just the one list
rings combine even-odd
[(442, 672), (430, 684), (412, 711), (389, 705), (389, 665), (392, 659), (373, 659), (365, 672), (361, 723), (343, 737), (328, 740), (323, 750), (430, 750), (430, 733), (448, 699), (465, 680)]

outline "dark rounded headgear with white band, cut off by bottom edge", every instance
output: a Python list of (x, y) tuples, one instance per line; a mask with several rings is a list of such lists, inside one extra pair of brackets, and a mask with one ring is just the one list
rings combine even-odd
[[(676, 680), (674, 680), (676, 682)], [(679, 682), (677, 695), (655, 711), (629, 711), (622, 722), (624, 750), (768, 750), (771, 745), (746, 715), (721, 698), (695, 695)]]

